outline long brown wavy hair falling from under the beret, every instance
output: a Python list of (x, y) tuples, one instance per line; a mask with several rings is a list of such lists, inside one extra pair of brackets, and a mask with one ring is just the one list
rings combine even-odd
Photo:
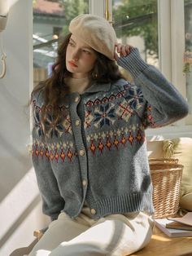
[[(44, 103), (41, 113), (42, 124), (45, 125), (46, 110), (51, 106), (53, 111), (53, 119), (56, 120), (59, 117), (59, 102), (69, 93), (68, 86), (64, 83), (64, 77), (69, 77), (70, 73), (66, 68), (66, 51), (68, 47), (69, 39), (72, 33), (64, 38), (63, 43), (58, 48), (58, 57), (55, 64), (52, 67), (51, 76), (46, 81), (40, 82), (32, 92), (33, 94), (43, 89)], [(89, 73), (89, 79), (99, 84), (106, 82), (116, 82), (122, 78), (119, 67), (116, 61), (108, 59), (105, 55), (96, 51), (97, 60), (94, 64), (94, 68)]]

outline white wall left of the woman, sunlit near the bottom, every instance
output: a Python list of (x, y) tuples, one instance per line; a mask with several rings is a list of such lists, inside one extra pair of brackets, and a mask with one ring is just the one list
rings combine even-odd
[(33, 230), (47, 221), (26, 148), (30, 136), (26, 105), (33, 84), (33, 1), (14, 2), (2, 33), (7, 74), (0, 79), (0, 256), (28, 246)]

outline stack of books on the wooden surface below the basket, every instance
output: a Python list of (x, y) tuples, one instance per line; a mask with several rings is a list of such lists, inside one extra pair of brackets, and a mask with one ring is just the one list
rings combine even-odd
[(192, 236), (192, 212), (181, 218), (157, 218), (155, 225), (170, 237)]

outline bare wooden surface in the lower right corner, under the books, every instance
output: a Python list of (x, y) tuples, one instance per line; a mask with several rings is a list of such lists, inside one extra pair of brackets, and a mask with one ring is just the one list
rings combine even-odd
[(168, 237), (155, 227), (154, 234), (146, 248), (132, 256), (192, 256), (192, 237)]

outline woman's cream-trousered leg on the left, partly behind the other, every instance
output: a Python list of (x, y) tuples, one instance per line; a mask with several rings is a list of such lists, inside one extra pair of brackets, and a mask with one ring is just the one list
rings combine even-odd
[(72, 240), (88, 228), (88, 223), (81, 218), (72, 219), (67, 214), (59, 214), (28, 256), (49, 255), (61, 242)]

